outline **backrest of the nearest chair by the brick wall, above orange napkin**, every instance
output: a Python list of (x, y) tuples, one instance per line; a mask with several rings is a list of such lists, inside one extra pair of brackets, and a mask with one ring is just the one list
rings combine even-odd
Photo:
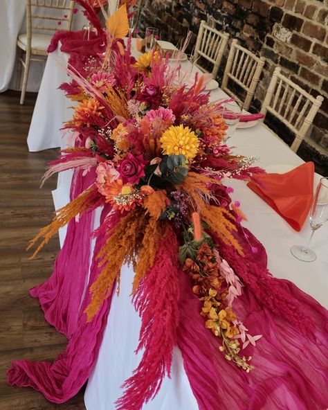
[(295, 133), (291, 149), (296, 152), (313, 122), (323, 97), (314, 98), (298, 84), (281, 73), (277, 67), (266, 91), (261, 112), (270, 112)]

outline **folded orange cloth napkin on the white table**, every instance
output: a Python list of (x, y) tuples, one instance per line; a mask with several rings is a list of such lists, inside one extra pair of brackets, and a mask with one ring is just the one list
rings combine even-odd
[(295, 231), (307, 220), (313, 198), (313, 162), (285, 174), (264, 174), (247, 186), (271, 206)]

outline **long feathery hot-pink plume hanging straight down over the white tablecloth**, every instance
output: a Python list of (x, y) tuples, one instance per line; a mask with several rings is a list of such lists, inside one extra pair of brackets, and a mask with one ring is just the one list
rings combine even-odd
[(170, 377), (179, 323), (177, 255), (176, 235), (170, 231), (134, 296), (142, 320), (138, 350), (145, 350), (134, 375), (123, 384), (125, 393), (116, 402), (118, 410), (141, 410), (158, 393), (165, 373)]

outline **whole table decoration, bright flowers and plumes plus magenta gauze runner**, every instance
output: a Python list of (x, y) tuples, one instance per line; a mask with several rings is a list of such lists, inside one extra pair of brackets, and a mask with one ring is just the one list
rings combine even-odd
[(101, 52), (69, 64), (72, 81), (62, 89), (78, 101), (64, 125), (72, 147), (43, 182), (73, 169), (71, 202), (30, 243), (39, 242), (36, 256), (68, 224), (53, 276), (30, 291), (67, 335), (66, 352), (53, 363), (13, 362), (8, 382), (58, 403), (75, 395), (98, 355), (120, 269), (131, 263), (143, 358), (117, 409), (140, 410), (154, 398), (175, 345), (201, 410), (323, 408), (327, 312), (269, 274), (264, 248), (224, 185), (263, 170), (224, 144), (223, 102), (209, 103), (203, 76), (189, 89), (175, 85), (179, 64), (155, 50), (135, 60), (131, 36), (126, 47), (121, 40), (128, 30), (123, 6), (95, 33)]

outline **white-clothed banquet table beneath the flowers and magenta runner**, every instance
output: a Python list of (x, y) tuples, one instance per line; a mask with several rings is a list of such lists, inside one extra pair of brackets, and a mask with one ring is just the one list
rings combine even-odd
[[(39, 91), (35, 113), (28, 136), (30, 150), (42, 150), (64, 146), (58, 129), (62, 121), (69, 119), (71, 112), (64, 93), (57, 87), (66, 80), (64, 62), (66, 55), (59, 49), (48, 57), (46, 71)], [(217, 88), (211, 91), (210, 100), (224, 98), (226, 94)], [(42, 107), (51, 104), (51, 114), (42, 111)], [(70, 105), (70, 104), (69, 104)], [(48, 130), (46, 132), (46, 130)], [(49, 132), (50, 130), (50, 132)], [(268, 168), (270, 166), (299, 166), (303, 163), (297, 154), (275, 136), (263, 123), (254, 127), (237, 129), (228, 140), (235, 147), (235, 154), (258, 157), (255, 165)], [(31, 149), (33, 147), (33, 149)], [(279, 167), (278, 167), (279, 168)], [(300, 184), (302, 181), (300, 181)], [(55, 208), (69, 202), (71, 173), (62, 172), (57, 190), (53, 191)], [(234, 188), (233, 199), (238, 199), (242, 211), (248, 221), (244, 226), (262, 242), (268, 253), (268, 269), (277, 278), (291, 280), (304, 292), (316, 298), (328, 307), (328, 253), (327, 226), (319, 229), (313, 237), (311, 247), (317, 253), (317, 260), (311, 263), (295, 259), (290, 248), (294, 244), (305, 244), (311, 233), (309, 222), (304, 224), (300, 232), (294, 231), (280, 215), (251, 191), (244, 181), (226, 179), (225, 184)], [(100, 210), (94, 213), (93, 224), (99, 224)], [(61, 244), (65, 231), (61, 231)], [(78, 262), (78, 261), (77, 261)], [(111, 310), (104, 330), (104, 337), (98, 360), (89, 377), (84, 401), (88, 410), (112, 410), (114, 402), (122, 395), (120, 386), (131, 376), (138, 366), (142, 352), (135, 350), (138, 346), (140, 318), (131, 303), (131, 284), (133, 279), (131, 267), (122, 268), (120, 294), (113, 295)], [(143, 407), (145, 410), (196, 410), (196, 399), (192, 394), (188, 377), (183, 368), (179, 348), (175, 348), (172, 364), (172, 378), (165, 377), (161, 390), (156, 398)]]

